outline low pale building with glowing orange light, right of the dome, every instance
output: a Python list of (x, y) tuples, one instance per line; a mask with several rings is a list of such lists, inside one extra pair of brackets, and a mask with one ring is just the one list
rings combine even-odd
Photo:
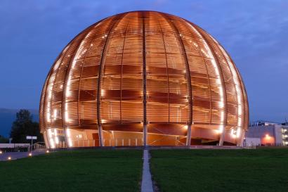
[(288, 123), (259, 121), (250, 124), (244, 146), (288, 146)]

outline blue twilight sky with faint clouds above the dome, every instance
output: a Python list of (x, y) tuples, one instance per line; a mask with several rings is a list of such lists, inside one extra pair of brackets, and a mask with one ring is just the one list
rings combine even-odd
[(116, 13), (162, 11), (199, 25), (230, 53), (250, 120), (288, 120), (288, 1), (0, 1), (0, 108), (39, 108), (48, 70), (79, 32)]

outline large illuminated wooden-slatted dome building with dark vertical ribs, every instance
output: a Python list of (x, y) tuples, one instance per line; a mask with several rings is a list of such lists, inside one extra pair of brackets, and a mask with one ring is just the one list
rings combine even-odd
[(248, 113), (218, 41), (175, 15), (133, 11), (67, 44), (44, 84), (40, 129), (49, 148), (240, 146)]

